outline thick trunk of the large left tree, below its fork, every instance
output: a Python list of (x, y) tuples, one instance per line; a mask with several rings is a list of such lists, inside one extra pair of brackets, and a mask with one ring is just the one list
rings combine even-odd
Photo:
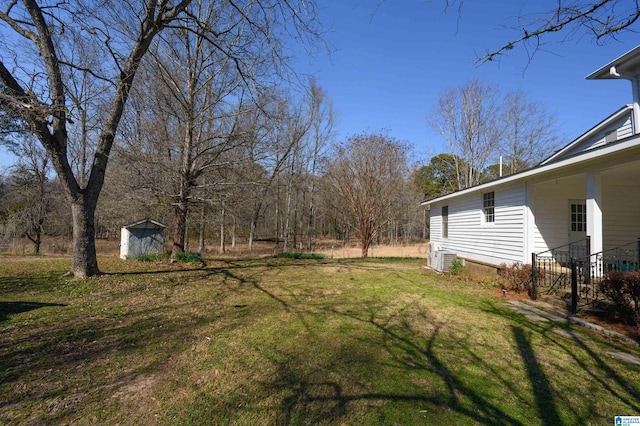
[(100, 273), (96, 256), (95, 211), (96, 202), (85, 197), (71, 202), (73, 259), (70, 274), (75, 278), (87, 278)]

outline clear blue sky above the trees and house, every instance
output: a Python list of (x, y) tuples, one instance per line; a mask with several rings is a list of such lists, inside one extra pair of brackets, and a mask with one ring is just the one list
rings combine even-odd
[[(416, 160), (446, 150), (426, 124), (438, 95), (472, 78), (503, 90), (522, 89), (547, 106), (566, 142), (631, 102), (628, 81), (584, 77), (634, 48), (637, 34), (598, 46), (581, 32), (547, 46), (528, 64), (517, 47), (497, 63), (474, 60), (517, 36), (517, 16), (551, 9), (554, 0), (466, 0), (445, 13), (445, 0), (319, 0), (331, 55), (298, 58), (314, 74), (338, 112), (338, 137), (388, 130), (411, 143)], [(526, 68), (526, 69), (525, 69)], [(0, 169), (11, 162), (0, 148)]]

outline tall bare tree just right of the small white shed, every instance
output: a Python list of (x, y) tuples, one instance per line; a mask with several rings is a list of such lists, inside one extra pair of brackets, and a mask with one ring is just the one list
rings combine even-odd
[[(248, 23), (229, 10), (212, 7), (213, 2), (194, 1), (188, 11), (196, 19), (186, 20), (176, 31), (165, 32), (159, 38), (161, 43), (151, 50), (155, 76), (152, 81), (161, 87), (158, 106), (165, 109), (181, 135), (167, 135), (164, 141), (168, 144), (166, 152), (175, 148), (177, 154), (175, 161), (165, 162), (170, 167), (165, 172), (174, 178), (170, 195), (174, 209), (172, 256), (185, 250), (187, 218), (194, 190), (202, 186), (199, 180), (212, 167), (219, 166), (222, 154), (233, 148), (235, 119), (233, 108), (227, 107), (227, 98), (238, 98), (243, 76), (255, 78), (249, 71), (237, 73), (230, 58), (207, 42), (208, 35), (221, 28), (229, 28), (226, 40), (221, 41), (227, 43), (225, 51), (236, 50), (238, 42), (258, 41), (257, 37), (246, 40), (243, 34), (251, 30), (245, 28)], [(261, 60), (244, 56), (237, 59), (247, 63)]]

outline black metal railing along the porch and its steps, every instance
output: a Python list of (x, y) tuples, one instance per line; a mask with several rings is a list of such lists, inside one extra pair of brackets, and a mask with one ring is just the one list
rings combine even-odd
[(576, 313), (580, 301), (596, 305), (603, 299), (598, 284), (608, 272), (640, 271), (640, 238), (594, 254), (589, 253), (589, 237), (577, 243), (584, 248), (571, 247), (576, 244), (572, 243), (532, 255), (533, 300), (539, 291), (557, 293), (570, 289), (571, 311)]

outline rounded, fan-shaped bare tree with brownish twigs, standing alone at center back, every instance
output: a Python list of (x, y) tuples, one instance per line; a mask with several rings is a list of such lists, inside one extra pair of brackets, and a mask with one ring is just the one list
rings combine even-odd
[(360, 236), (362, 257), (381, 226), (388, 209), (408, 177), (408, 146), (383, 134), (363, 134), (335, 147), (325, 161), (325, 178), (344, 201)]

